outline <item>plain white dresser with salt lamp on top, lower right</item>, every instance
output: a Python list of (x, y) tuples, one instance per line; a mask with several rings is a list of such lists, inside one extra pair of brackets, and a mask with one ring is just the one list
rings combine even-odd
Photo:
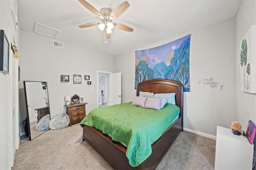
[(217, 126), (215, 169), (252, 170), (253, 144), (232, 133), (230, 128)]

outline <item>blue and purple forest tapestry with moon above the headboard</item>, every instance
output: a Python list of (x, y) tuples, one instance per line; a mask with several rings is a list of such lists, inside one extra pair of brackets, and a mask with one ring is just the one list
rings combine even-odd
[(180, 81), (190, 91), (189, 56), (191, 34), (158, 47), (135, 51), (135, 89), (149, 79)]

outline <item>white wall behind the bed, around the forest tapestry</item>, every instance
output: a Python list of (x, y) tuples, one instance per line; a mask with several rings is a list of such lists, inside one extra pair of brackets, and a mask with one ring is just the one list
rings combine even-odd
[[(184, 93), (184, 127), (216, 136), (218, 125), (229, 127), (236, 120), (236, 22), (226, 20), (205, 28), (136, 50), (156, 47), (191, 34), (190, 42), (190, 87)], [(125, 63), (125, 64), (124, 64)], [(116, 70), (122, 72), (122, 101), (135, 97), (135, 52), (116, 57)], [(224, 85), (222, 90), (198, 85), (200, 78), (213, 77)]]

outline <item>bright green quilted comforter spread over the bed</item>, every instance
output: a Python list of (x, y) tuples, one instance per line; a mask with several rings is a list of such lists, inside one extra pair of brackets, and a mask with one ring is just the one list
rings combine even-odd
[(136, 167), (152, 153), (156, 141), (180, 113), (176, 105), (167, 104), (161, 110), (143, 109), (130, 103), (100, 107), (84, 117), (81, 126), (88, 125), (110, 134), (112, 139), (126, 144), (126, 156)]

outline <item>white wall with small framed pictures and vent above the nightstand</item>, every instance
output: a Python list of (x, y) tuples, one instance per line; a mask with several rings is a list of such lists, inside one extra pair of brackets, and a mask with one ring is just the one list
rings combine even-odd
[[(66, 95), (84, 97), (86, 113), (97, 107), (97, 70), (113, 72), (113, 56), (68, 42), (63, 42), (64, 49), (54, 47), (52, 38), (26, 30), (20, 31), (20, 40), (20, 89), (23, 81), (46, 81), (51, 117), (60, 113)], [(82, 75), (82, 84), (73, 84), (73, 74)], [(60, 82), (60, 75), (69, 75), (70, 81)], [(87, 85), (84, 75), (90, 75), (92, 85)], [(66, 108), (61, 112), (66, 113)]]

